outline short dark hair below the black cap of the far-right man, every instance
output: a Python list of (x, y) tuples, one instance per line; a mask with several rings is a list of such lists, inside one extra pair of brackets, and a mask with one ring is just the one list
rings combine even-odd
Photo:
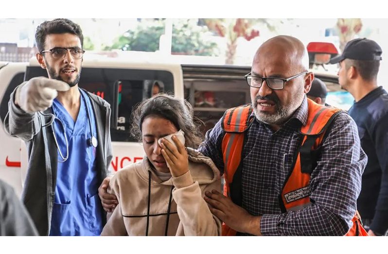
[(380, 61), (378, 60), (353, 60), (345, 59), (345, 68), (349, 69), (353, 66), (360, 76), (365, 81), (372, 81), (377, 78), (377, 73), (380, 68)]

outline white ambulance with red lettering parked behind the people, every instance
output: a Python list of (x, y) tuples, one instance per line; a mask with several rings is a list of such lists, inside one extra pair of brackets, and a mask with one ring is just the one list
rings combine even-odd
[[(117, 171), (144, 155), (141, 144), (129, 134), (130, 114), (134, 105), (152, 96), (153, 87), (188, 100), (194, 107), (194, 115), (205, 122), (201, 129), (205, 133), (226, 109), (250, 103), (249, 86), (244, 78), (249, 72), (249, 66), (135, 62), (129, 58), (85, 55), (79, 86), (111, 105), (113, 159), (110, 166)], [(325, 82), (329, 93), (340, 90), (335, 74), (316, 71), (315, 74)], [(23, 141), (5, 133), (3, 121), (15, 87), (37, 76), (47, 77), (47, 72), (35, 58), (29, 63), (0, 62), (0, 179), (13, 186), (18, 195), (27, 169), (27, 151)], [(327, 102), (341, 106), (334, 101)]]

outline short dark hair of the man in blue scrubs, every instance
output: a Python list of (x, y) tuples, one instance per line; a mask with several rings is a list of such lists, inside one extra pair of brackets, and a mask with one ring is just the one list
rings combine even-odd
[(48, 34), (65, 34), (70, 33), (77, 35), (81, 41), (81, 47), (84, 45), (84, 35), (79, 25), (67, 18), (56, 18), (50, 21), (44, 21), (36, 28), (35, 41), (39, 52), (44, 51), (44, 44)]

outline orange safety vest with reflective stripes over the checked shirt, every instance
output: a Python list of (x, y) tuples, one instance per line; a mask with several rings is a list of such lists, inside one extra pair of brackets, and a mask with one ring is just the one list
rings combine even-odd
[[(282, 212), (296, 211), (311, 205), (310, 202), (310, 174), (317, 166), (317, 156), (320, 154), (320, 144), (326, 138), (326, 130), (341, 110), (319, 105), (308, 100), (307, 123), (300, 129), (303, 139), (300, 143), (294, 168), (290, 171), (284, 183), (281, 201)], [(246, 130), (253, 122), (250, 104), (227, 110), (222, 118), (222, 128), (226, 132), (222, 140), (222, 154), (224, 160), (224, 195), (230, 197), (233, 203), (242, 206), (241, 186), (241, 154), (243, 151)], [(356, 211), (353, 226), (346, 236), (368, 236), (361, 223), (361, 218)], [(223, 223), (222, 235), (235, 236), (236, 231)]]

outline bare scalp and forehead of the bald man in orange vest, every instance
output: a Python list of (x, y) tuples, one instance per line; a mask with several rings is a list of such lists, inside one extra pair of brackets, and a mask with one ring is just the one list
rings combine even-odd
[(265, 41), (253, 58), (253, 63), (262, 59), (277, 59), (288, 65), (293, 71), (307, 71), (309, 69), (309, 56), (303, 43), (292, 36), (279, 35)]

